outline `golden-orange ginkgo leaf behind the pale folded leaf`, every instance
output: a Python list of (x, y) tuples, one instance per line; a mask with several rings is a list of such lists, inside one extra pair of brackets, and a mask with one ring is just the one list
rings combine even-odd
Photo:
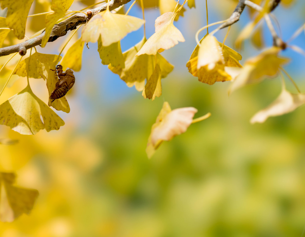
[[(207, 36), (207, 35), (206, 35)], [(206, 38), (204, 36), (200, 42)], [(218, 42), (218, 41), (217, 41)], [(222, 43), (218, 42), (219, 47), (221, 48), (221, 54), (223, 61), (216, 63), (214, 68), (212, 70), (208, 70), (208, 65), (202, 66), (199, 70), (197, 69), (197, 62), (198, 62), (198, 53), (199, 53), (199, 46), (197, 45), (194, 49), (190, 60), (186, 64), (188, 67), (188, 71), (195, 77), (198, 77), (198, 80), (204, 83), (207, 83), (209, 85), (214, 84), (217, 81), (230, 81), (232, 80), (232, 77), (230, 74), (228, 74), (224, 68), (227, 66), (231, 67), (242, 67), (239, 60), (242, 59), (242, 56), (235, 52), (233, 49), (229, 48), (226, 45), (223, 45)], [(216, 47), (216, 46), (215, 46)], [(218, 47), (217, 47), (218, 50)], [(206, 60), (208, 62), (208, 59)]]

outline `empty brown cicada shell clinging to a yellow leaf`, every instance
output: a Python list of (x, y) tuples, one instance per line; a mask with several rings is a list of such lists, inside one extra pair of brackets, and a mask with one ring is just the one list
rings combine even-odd
[(67, 69), (65, 72), (63, 72), (63, 66), (57, 65), (56, 69), (50, 69), (52, 71), (57, 72), (58, 81), (56, 82), (55, 89), (50, 95), (50, 99), (53, 102), (56, 99), (62, 98), (66, 95), (66, 93), (72, 88), (75, 82), (75, 76), (73, 74), (73, 71), (71, 69)]

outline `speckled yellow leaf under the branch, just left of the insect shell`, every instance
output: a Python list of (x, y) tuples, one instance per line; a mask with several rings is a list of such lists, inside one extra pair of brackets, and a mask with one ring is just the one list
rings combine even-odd
[[(41, 78), (40, 74), (38, 73), (38, 67), (37, 65), (37, 59), (41, 63), (52, 63), (56, 60), (58, 55), (55, 54), (44, 54), (44, 53), (33, 53), (31, 57), (27, 57), (26, 59), (23, 59), (18, 66), (16, 67), (16, 70), (13, 74), (17, 74), (20, 77), (26, 77), (27, 76), (27, 70), (29, 70), (29, 77), (31, 78)], [(61, 57), (60, 57), (61, 58)]]

